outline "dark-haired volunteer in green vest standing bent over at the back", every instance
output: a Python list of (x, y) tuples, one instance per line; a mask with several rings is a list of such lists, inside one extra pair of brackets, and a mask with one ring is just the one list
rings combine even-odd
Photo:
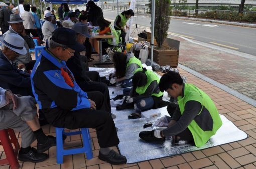
[(121, 40), (125, 44), (125, 36), (126, 36), (126, 29), (129, 29), (130, 27), (127, 26), (127, 21), (130, 17), (134, 16), (134, 11), (132, 9), (129, 9), (127, 11), (123, 11), (121, 14), (116, 16), (114, 21), (114, 28), (115, 30), (121, 30)]

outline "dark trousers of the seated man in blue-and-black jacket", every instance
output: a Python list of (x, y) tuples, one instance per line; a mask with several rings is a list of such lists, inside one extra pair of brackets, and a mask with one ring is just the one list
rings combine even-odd
[(61, 108), (43, 109), (47, 121), (54, 127), (77, 129), (96, 128), (99, 146), (107, 148), (119, 144), (112, 116), (106, 111), (80, 109), (75, 111)]

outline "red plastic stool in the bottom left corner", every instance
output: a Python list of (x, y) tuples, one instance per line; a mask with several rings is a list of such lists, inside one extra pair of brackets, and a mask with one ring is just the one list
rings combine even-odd
[[(10, 136), (10, 138), (9, 138)], [(6, 159), (0, 160), (0, 166), (9, 164), (12, 169), (18, 169), (20, 164), (17, 159), (18, 150), (20, 149), (19, 142), (15, 136), (14, 130), (0, 130), (0, 145), (2, 144), (6, 154)], [(14, 148), (12, 146), (14, 144)]]

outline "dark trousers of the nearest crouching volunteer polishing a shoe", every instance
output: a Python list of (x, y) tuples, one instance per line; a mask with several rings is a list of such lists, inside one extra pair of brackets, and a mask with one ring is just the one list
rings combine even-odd
[[(173, 116), (177, 107), (178, 107), (178, 105), (175, 104), (175, 103), (170, 103), (167, 106), (167, 112), (171, 117)], [(177, 135), (173, 136), (173, 143), (177, 143), (179, 140), (189, 141), (190, 143), (194, 144), (193, 135), (192, 135), (192, 133), (190, 132), (190, 130), (188, 128), (186, 128), (181, 133), (178, 133)]]

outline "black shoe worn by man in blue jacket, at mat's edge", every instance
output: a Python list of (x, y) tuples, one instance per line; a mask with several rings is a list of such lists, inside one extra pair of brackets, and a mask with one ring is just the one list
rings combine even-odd
[(114, 150), (111, 150), (108, 155), (103, 155), (99, 151), (99, 159), (113, 165), (124, 164), (127, 162), (127, 159), (125, 156), (118, 154)]

